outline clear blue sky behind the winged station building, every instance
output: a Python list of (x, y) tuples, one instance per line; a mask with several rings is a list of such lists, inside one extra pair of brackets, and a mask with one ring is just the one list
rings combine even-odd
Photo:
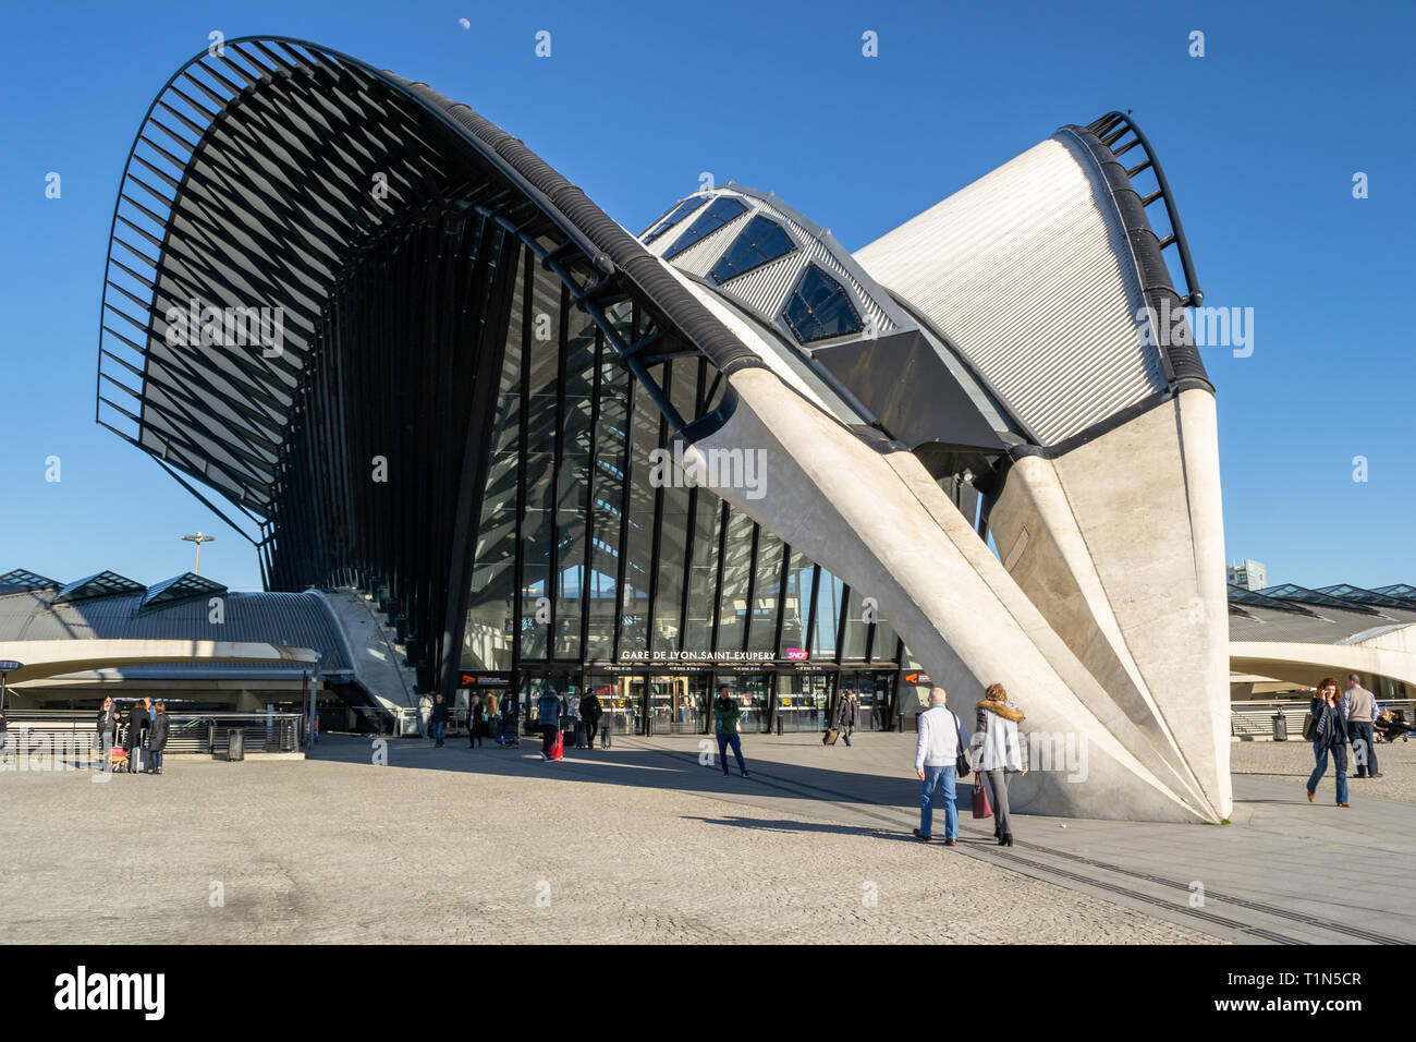
[[(472, 23), (470, 30), (459, 18)], [(1255, 309), (1219, 388), (1228, 554), (1270, 581), (1416, 583), (1413, 7), (1366, 3), (8, 1), (0, 55), (0, 571), (207, 574), (249, 543), (93, 424), (98, 302), (139, 121), (207, 45), (282, 34), (466, 101), (639, 231), (700, 172), (857, 250), (1046, 138), (1133, 109), (1208, 302)], [(552, 34), (537, 58), (534, 35)], [(861, 57), (861, 34), (879, 57)], [(1205, 57), (1188, 35), (1205, 33)], [(44, 197), (48, 172), (62, 197)], [(1354, 172), (1371, 197), (1354, 200)], [(1369, 481), (1352, 481), (1366, 456)], [(45, 481), (45, 458), (61, 481)]]

